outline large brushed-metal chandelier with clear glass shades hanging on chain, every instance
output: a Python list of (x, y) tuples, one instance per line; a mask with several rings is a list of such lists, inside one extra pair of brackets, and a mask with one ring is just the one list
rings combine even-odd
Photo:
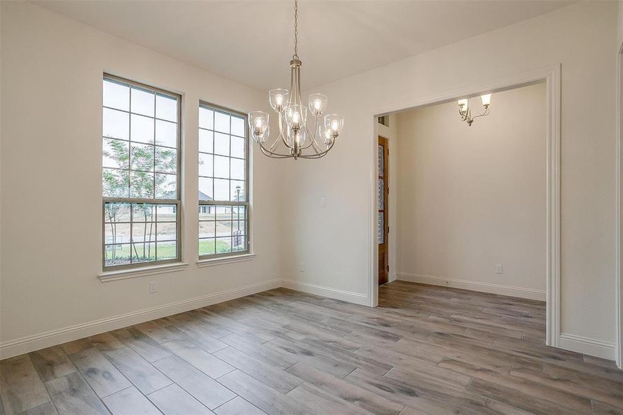
[(301, 59), (298, 55), (299, 4), (294, 6), (294, 55), (290, 61), (290, 91), (268, 91), (270, 107), (277, 113), (279, 134), (270, 138), (268, 113), (249, 113), (249, 127), (263, 154), (272, 158), (321, 158), (333, 148), (342, 132), (344, 118), (337, 114), (322, 117), (326, 95), (313, 93), (307, 104), (301, 91)]

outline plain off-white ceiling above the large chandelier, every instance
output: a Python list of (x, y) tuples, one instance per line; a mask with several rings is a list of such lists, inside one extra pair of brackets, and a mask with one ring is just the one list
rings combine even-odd
[[(289, 88), (293, 1), (35, 1), (257, 89)], [(570, 1), (299, 3), (304, 88), (530, 19)]]

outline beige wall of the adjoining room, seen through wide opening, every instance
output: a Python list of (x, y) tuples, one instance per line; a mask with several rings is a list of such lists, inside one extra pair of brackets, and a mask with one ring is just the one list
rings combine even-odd
[(491, 109), (472, 127), (455, 101), (398, 114), (398, 279), (545, 299), (546, 86)]

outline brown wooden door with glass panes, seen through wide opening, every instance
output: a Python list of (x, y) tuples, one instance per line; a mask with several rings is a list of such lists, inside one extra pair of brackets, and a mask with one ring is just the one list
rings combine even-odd
[(378, 284), (385, 284), (389, 274), (389, 262), (387, 261), (387, 234), (389, 225), (387, 221), (389, 203), (389, 147), (387, 138), (378, 138)]

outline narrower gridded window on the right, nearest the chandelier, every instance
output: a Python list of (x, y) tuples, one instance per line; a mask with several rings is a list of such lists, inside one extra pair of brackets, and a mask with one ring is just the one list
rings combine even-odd
[(246, 116), (199, 106), (199, 257), (249, 251)]

